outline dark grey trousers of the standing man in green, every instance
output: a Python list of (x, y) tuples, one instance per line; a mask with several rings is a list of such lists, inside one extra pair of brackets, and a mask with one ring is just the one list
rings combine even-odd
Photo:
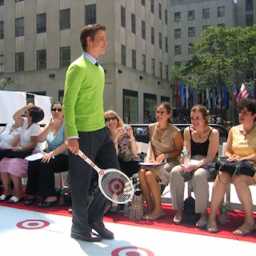
[[(99, 168), (120, 170), (115, 146), (106, 127), (93, 132), (79, 132), (79, 147)], [(89, 232), (88, 222), (103, 220), (109, 200), (97, 189), (92, 202), (87, 205), (86, 199), (95, 170), (71, 152), (68, 153), (68, 161), (73, 207), (72, 231)]]

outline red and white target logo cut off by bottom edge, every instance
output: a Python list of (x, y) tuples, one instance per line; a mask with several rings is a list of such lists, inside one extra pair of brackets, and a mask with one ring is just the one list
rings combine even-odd
[(113, 250), (111, 256), (154, 256), (154, 253), (141, 247), (125, 246)]

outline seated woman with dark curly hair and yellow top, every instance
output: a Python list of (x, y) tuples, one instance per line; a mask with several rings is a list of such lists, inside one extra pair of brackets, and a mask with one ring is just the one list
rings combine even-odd
[[(241, 100), (237, 104), (239, 111), (240, 125), (234, 126), (228, 132), (227, 147), (225, 156), (228, 161), (242, 161), (243, 159), (252, 159), (256, 161), (256, 100), (247, 98)], [(255, 168), (255, 165), (254, 165)], [(231, 177), (230, 173), (220, 172), (220, 179), (226, 182)], [(256, 183), (256, 174), (253, 177), (248, 175), (235, 175), (232, 180), (236, 187), (237, 196), (243, 205), (244, 209), (244, 223), (241, 227), (233, 231), (237, 236), (246, 236), (253, 230), (256, 230), (256, 223), (253, 220), (253, 202), (249, 186)], [(207, 231), (218, 232), (216, 225), (216, 212), (220, 206), (227, 184), (222, 184), (218, 179), (215, 179), (212, 200), (211, 212), (209, 214)]]

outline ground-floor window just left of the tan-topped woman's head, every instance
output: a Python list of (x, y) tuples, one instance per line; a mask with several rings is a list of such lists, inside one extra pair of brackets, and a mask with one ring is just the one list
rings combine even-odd
[(144, 93), (144, 123), (156, 122), (156, 95)]

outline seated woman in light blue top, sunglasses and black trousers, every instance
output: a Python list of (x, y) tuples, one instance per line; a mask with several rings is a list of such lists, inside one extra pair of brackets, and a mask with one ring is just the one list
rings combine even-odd
[(68, 170), (67, 134), (62, 113), (62, 104), (54, 102), (51, 107), (52, 118), (38, 135), (38, 141), (47, 142), (46, 154), (42, 159), (30, 161), (28, 166), (28, 184), (25, 205), (34, 204), (37, 196), (44, 198), (38, 207), (55, 206), (58, 198), (55, 191), (54, 172)]

